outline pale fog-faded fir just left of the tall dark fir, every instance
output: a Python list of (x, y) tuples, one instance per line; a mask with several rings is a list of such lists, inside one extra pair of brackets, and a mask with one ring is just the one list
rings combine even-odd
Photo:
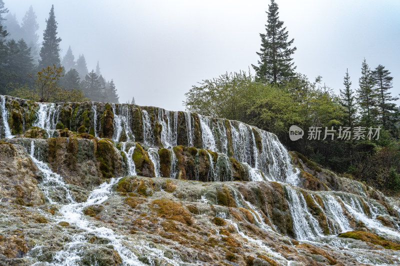
[(33, 57), (34, 63), (39, 61), (39, 35), (36, 33), (39, 29), (39, 24), (37, 23), (37, 17), (33, 11), (33, 7), (29, 6), (25, 15), (22, 18), (21, 30), (23, 34), (23, 39), (26, 44), (31, 48), (31, 55)]

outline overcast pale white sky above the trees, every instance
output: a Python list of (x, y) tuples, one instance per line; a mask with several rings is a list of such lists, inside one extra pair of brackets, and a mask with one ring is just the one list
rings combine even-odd
[[(21, 21), (33, 6), (42, 36), (54, 4), (61, 57), (71, 45), (89, 71), (97, 60), (120, 102), (184, 110), (184, 93), (202, 79), (256, 64), (268, 0), (3, 0)], [(276, 0), (294, 38), (297, 71), (321, 75), (338, 92), (348, 68), (358, 86), (363, 58), (392, 73), (400, 93), (399, 0)]]

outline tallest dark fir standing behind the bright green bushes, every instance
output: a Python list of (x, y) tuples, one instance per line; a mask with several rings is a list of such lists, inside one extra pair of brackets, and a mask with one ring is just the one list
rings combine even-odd
[(257, 52), (260, 59), (258, 66), (252, 65), (256, 76), (264, 82), (273, 84), (282, 82), (294, 75), (294, 62), (291, 55), (296, 47), (290, 48), (294, 39), (287, 40), (288, 31), (283, 27), (283, 21), (279, 20), (278, 5), (271, 0), (268, 5), (266, 33), (260, 33), (261, 48)]

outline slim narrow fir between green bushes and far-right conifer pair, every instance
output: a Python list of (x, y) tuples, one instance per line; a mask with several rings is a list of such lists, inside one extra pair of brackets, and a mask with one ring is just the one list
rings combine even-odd
[(344, 89), (340, 89), (340, 103), (343, 106), (345, 120), (348, 123), (348, 126), (352, 126), (356, 120), (357, 108), (355, 105), (355, 97), (354, 92), (350, 89), (351, 81), (350, 76), (348, 75), (348, 69), (346, 70), (346, 74), (343, 78)]

